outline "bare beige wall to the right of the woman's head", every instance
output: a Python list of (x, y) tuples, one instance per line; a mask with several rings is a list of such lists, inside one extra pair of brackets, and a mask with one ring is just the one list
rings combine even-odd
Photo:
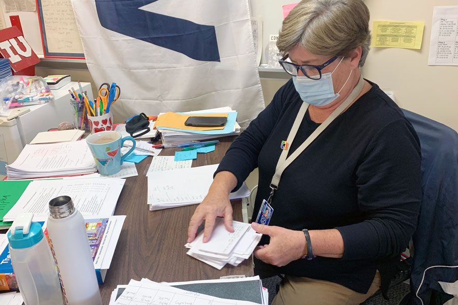
[(458, 67), (428, 66), (433, 6), (458, 5), (456, 0), (366, 0), (375, 20), (424, 21), (420, 50), (373, 48), (363, 75), (392, 90), (396, 103), (458, 131)]

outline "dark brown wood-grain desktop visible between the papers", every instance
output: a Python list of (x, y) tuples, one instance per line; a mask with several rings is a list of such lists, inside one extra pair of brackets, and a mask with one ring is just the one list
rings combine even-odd
[[(217, 164), (235, 137), (220, 139), (215, 151), (198, 154), (192, 167)], [(167, 148), (161, 156), (173, 156), (178, 149)], [(189, 220), (196, 205), (150, 211), (147, 205), (148, 179), (145, 176), (152, 157), (136, 164), (138, 176), (126, 178), (115, 215), (126, 215), (105, 283), (100, 285), (103, 304), (108, 304), (117, 285), (130, 279), (147, 278), (155, 282), (219, 279), (227, 275), (253, 275), (252, 260), (238, 267), (227, 264), (221, 270), (186, 254)], [(234, 220), (242, 221), (241, 200), (233, 200)]]

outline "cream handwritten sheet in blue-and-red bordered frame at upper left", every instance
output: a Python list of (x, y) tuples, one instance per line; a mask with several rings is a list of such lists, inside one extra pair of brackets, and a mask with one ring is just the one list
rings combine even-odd
[(70, 0), (37, 0), (45, 57), (84, 58)]

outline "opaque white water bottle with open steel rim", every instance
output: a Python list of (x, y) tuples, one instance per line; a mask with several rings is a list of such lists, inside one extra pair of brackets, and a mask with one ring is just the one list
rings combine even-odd
[(101, 305), (84, 219), (69, 196), (49, 201), (47, 229), (67, 304)]

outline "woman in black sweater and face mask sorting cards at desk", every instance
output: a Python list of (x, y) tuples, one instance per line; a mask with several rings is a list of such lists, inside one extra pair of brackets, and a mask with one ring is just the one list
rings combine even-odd
[[(188, 241), (204, 219), (204, 241), (218, 216), (232, 231), (228, 194), (259, 167), (255, 273), (286, 275), (274, 304), (359, 304), (386, 291), (415, 230), (419, 141), (361, 77), (368, 21), (361, 0), (304, 0), (290, 12), (277, 46), (292, 79), (227, 150), (190, 222)], [(268, 226), (254, 223), (263, 200)]]

